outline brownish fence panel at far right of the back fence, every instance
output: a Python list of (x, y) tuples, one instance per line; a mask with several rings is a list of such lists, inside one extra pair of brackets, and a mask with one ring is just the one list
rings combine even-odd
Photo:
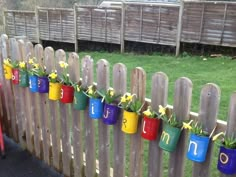
[(182, 42), (236, 47), (236, 3), (185, 2)]

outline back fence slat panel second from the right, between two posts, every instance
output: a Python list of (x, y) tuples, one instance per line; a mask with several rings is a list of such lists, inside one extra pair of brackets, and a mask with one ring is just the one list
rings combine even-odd
[(127, 41), (176, 45), (179, 5), (125, 4)]

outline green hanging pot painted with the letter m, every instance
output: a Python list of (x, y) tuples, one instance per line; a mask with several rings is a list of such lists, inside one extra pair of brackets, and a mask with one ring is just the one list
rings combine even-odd
[(168, 152), (173, 152), (176, 149), (180, 134), (180, 128), (172, 127), (168, 123), (165, 123), (159, 142), (159, 147)]

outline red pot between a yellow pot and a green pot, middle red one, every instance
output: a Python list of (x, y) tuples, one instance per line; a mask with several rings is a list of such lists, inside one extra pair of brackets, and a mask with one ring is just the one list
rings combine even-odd
[(68, 85), (62, 85), (61, 87), (61, 102), (73, 103), (74, 87)]

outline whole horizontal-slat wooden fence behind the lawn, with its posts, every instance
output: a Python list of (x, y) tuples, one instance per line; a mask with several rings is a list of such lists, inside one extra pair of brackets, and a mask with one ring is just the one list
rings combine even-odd
[(120, 44), (143, 42), (176, 46), (180, 42), (236, 46), (236, 3), (183, 1), (180, 4), (123, 3), (120, 7), (74, 5), (67, 8), (36, 8), (35, 12), (5, 11), (10, 37), (42, 40), (78, 40)]

